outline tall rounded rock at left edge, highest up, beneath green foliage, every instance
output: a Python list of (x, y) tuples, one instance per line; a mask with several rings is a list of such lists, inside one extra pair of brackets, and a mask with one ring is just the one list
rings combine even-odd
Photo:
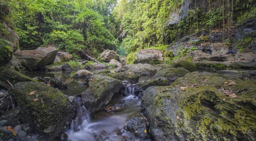
[[(12, 58), (12, 54), (18, 49), (19, 37), (5, 21), (0, 21), (6, 33), (0, 34), (0, 64), (6, 64)], [(7, 40), (8, 42), (6, 42)]]

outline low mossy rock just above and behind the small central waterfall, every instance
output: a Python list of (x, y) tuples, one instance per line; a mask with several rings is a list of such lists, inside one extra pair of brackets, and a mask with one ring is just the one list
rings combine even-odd
[(140, 74), (135, 74), (132, 71), (123, 71), (120, 73), (110, 73), (109, 76), (113, 77), (114, 79), (118, 80), (127, 80), (130, 83), (137, 83), (140, 79)]

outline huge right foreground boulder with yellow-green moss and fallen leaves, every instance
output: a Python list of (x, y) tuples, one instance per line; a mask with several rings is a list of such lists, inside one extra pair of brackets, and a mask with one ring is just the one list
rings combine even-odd
[(172, 86), (147, 88), (141, 106), (157, 141), (254, 140), (255, 93), (256, 81), (192, 72)]

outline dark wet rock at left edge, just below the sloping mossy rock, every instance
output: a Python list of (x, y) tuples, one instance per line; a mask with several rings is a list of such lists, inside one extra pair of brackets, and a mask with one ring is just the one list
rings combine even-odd
[(14, 103), (8, 91), (0, 90), (0, 111), (7, 112), (12, 108), (14, 108)]

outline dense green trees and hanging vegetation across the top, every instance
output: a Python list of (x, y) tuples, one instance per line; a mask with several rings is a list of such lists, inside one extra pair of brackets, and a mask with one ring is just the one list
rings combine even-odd
[[(141, 48), (166, 50), (185, 35), (222, 31), (255, 17), (253, 0), (0, 0), (1, 19), (20, 37), (19, 47), (55, 45), (75, 57), (104, 49), (134, 57)], [(172, 13), (189, 2), (187, 17), (170, 24)], [(1, 33), (4, 33), (2, 24)], [(204, 36), (202, 36), (204, 38)], [(251, 39), (254, 40), (254, 39)], [(239, 45), (238, 45), (239, 46)], [(188, 50), (183, 50), (184, 53)], [(180, 54), (183, 54), (181, 52)], [(168, 57), (170, 52), (166, 53)], [(130, 58), (130, 57), (129, 57)]]

